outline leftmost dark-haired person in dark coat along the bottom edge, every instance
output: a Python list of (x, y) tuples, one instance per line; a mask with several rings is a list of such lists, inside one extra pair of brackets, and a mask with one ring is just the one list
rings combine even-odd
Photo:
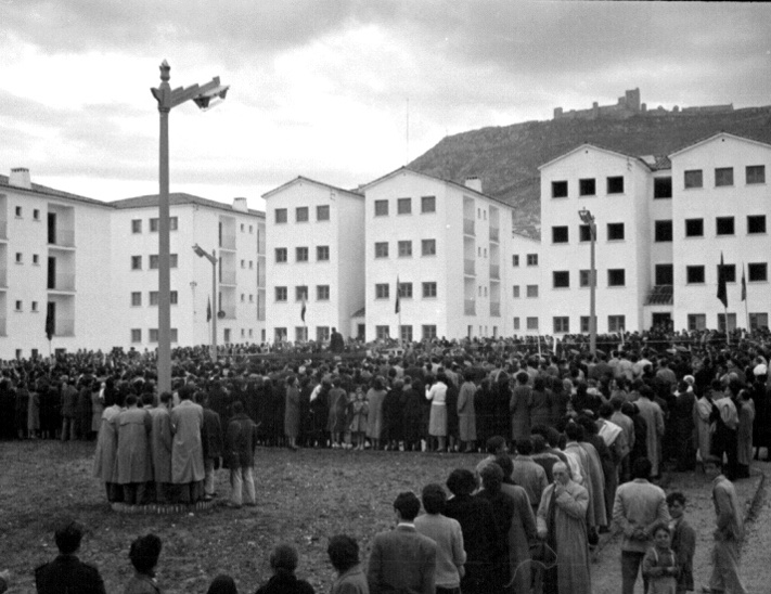
[(82, 526), (76, 521), (66, 521), (56, 529), (54, 539), (59, 556), (35, 570), (38, 594), (104, 594), (104, 582), (99, 569), (75, 556), (80, 548), (82, 535)]

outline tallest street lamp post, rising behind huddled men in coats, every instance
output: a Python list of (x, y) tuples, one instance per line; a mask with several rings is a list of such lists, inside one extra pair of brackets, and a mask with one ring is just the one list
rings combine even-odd
[[(219, 83), (216, 76), (204, 86), (171, 90), (171, 66), (165, 60), (160, 64), (160, 85), (151, 89), (158, 102), (160, 138), (158, 143), (158, 392), (171, 390), (171, 307), (169, 270), (169, 112), (192, 99), (202, 109), (208, 109), (224, 99), (228, 87)], [(214, 103), (213, 103), (214, 100)]]

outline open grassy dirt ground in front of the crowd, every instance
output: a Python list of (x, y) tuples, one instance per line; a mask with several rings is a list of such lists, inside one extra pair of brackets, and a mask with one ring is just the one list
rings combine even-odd
[[(64, 517), (82, 522), (88, 534), (80, 557), (95, 564), (107, 592), (121, 592), (131, 576), (128, 547), (138, 535), (155, 532), (164, 542), (158, 580), (167, 594), (204, 593), (218, 573), (232, 576), (242, 593), (270, 577), (268, 555), (279, 542), (300, 555), (298, 576), (317, 592), (327, 592), (334, 572), (326, 557), (329, 537), (348, 533), (367, 559), (375, 533), (393, 525), (391, 502), (399, 491), (444, 483), (457, 467), (472, 468), (479, 455), (258, 449), (257, 507), (214, 509), (188, 515), (128, 515), (112, 512), (103, 487), (91, 477), (93, 444), (55, 441), (0, 442), (0, 569), (12, 572), (11, 592), (34, 592), (34, 568), (56, 554), (53, 529)], [(736, 483), (741, 501), (756, 498), (762, 473)], [(698, 533), (696, 591), (707, 584), (714, 509), (711, 476), (665, 477), (666, 490), (686, 493), (689, 521)], [(227, 474), (217, 476), (220, 498), (229, 494)], [(760, 490), (757, 518), (748, 526), (743, 574), (751, 593), (771, 592), (771, 505)], [(620, 591), (620, 541), (604, 537), (592, 565), (596, 594)], [(642, 585), (638, 587), (642, 592)]]

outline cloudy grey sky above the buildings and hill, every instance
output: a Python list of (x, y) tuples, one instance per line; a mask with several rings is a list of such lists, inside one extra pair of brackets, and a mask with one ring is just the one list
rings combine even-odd
[(634, 87), (648, 107), (771, 104), (759, 3), (0, 0), (0, 172), (104, 201), (157, 192), (164, 59), (172, 88), (232, 86), (171, 112), (171, 190), (255, 208), (298, 175), (355, 186)]

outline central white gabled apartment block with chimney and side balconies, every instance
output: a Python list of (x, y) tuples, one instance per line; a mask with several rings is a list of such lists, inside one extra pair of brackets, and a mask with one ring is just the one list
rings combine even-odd
[(478, 178), (461, 185), (403, 167), (363, 191), (368, 340), (512, 332), (509, 205)]

